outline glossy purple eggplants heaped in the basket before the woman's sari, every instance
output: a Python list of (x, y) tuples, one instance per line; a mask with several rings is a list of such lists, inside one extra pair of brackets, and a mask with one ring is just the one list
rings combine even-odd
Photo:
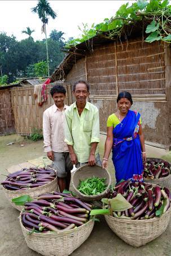
[(123, 181), (113, 188), (109, 198), (122, 194), (133, 206), (129, 210), (113, 212), (117, 218), (132, 220), (161, 216), (170, 207), (170, 191), (150, 183)]

